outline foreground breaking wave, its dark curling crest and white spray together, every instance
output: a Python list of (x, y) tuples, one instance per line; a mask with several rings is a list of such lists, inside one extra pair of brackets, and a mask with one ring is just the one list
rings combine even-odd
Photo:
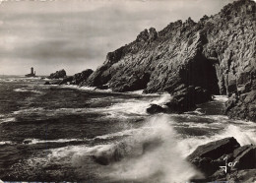
[(82, 167), (91, 157), (99, 164), (108, 164), (100, 167), (100, 174), (113, 181), (185, 182), (202, 176), (181, 156), (182, 147), (169, 122), (167, 116), (157, 116), (140, 129), (122, 132), (130, 136), (119, 143), (55, 149), (49, 158), (71, 156), (73, 166)]

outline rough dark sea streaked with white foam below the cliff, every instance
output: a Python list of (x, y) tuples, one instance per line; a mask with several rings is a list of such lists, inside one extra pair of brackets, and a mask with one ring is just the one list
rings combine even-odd
[(187, 182), (203, 176), (186, 161), (198, 146), (226, 137), (256, 142), (256, 123), (223, 115), (223, 95), (183, 114), (152, 115), (147, 107), (168, 93), (45, 81), (0, 77), (2, 181)]

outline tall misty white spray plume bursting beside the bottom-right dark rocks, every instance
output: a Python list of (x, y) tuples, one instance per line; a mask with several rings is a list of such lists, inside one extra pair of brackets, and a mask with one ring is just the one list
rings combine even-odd
[[(167, 115), (154, 117), (142, 127), (143, 131), (125, 139), (121, 146), (96, 152), (113, 160), (102, 172), (103, 176), (113, 181), (146, 182), (185, 182), (196, 175), (202, 176), (180, 155), (182, 150), (178, 149), (176, 133), (169, 122)], [(118, 150), (121, 158), (110, 158), (117, 149), (122, 149)]]

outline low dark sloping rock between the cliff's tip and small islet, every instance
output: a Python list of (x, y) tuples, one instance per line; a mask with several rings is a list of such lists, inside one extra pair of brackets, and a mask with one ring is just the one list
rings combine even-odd
[(63, 79), (59, 85), (70, 84), (70, 85), (81, 85), (92, 75), (94, 71), (87, 69), (81, 73), (77, 73), (74, 76)]

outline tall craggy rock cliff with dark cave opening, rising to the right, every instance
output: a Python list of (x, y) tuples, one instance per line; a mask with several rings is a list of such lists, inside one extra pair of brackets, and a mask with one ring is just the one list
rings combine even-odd
[(233, 95), (227, 115), (256, 121), (255, 4), (239, 0), (198, 23), (189, 18), (160, 31), (143, 30), (135, 41), (108, 53), (85, 85), (170, 93), (201, 87)]

